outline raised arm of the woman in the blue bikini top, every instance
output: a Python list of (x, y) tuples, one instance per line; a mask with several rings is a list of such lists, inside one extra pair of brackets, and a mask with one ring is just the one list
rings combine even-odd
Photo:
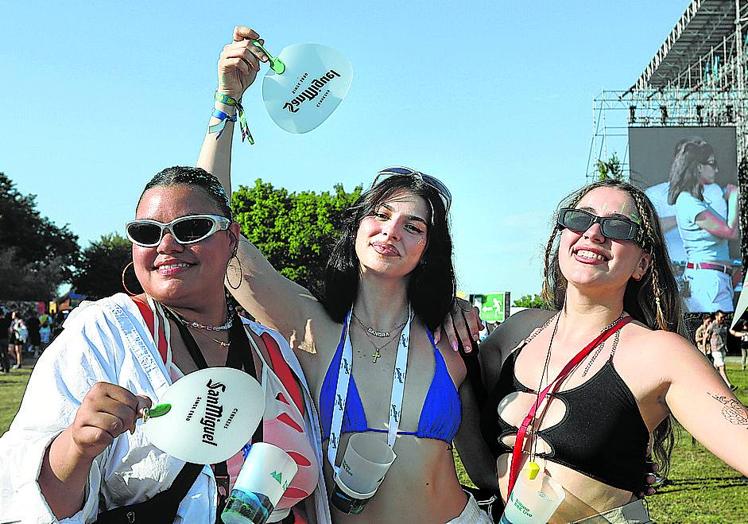
[[(197, 166), (215, 175), (231, 195), (231, 143), (237, 106), (267, 56), (252, 40), (260, 35), (247, 27), (234, 28), (233, 41), (218, 61), (218, 88), (213, 116), (203, 140)], [(222, 118), (221, 113), (226, 117)], [(322, 306), (304, 287), (288, 280), (246, 238), (241, 239), (236, 260), (227, 272), (227, 285), (239, 303), (260, 322), (291, 340), (294, 349), (306, 338), (309, 319), (326, 318)]]

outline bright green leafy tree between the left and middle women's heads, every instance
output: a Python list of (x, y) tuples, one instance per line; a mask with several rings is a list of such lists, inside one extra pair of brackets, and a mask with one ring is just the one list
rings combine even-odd
[(284, 276), (319, 293), (324, 269), (343, 224), (343, 212), (361, 195), (361, 186), (347, 193), (289, 192), (260, 179), (232, 195), (234, 219), (242, 233)]

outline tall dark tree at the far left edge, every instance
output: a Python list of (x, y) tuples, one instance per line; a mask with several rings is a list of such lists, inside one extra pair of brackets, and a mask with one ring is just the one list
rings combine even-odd
[(58, 227), (39, 214), (35, 195), (21, 194), (0, 173), (0, 298), (51, 298), (72, 275), (77, 240), (67, 225)]

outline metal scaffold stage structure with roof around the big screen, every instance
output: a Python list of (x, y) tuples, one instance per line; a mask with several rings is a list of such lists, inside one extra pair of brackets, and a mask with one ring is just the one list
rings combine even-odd
[[(615, 153), (629, 169), (629, 128), (734, 127), (741, 209), (748, 210), (748, 1), (693, 0), (644, 72), (625, 91), (593, 101), (587, 178)], [(741, 213), (743, 267), (748, 213)]]

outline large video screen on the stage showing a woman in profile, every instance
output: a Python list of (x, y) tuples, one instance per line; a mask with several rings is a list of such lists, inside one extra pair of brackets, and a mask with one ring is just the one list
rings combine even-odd
[(631, 182), (659, 216), (687, 311), (733, 311), (742, 281), (735, 128), (630, 127), (629, 158)]

